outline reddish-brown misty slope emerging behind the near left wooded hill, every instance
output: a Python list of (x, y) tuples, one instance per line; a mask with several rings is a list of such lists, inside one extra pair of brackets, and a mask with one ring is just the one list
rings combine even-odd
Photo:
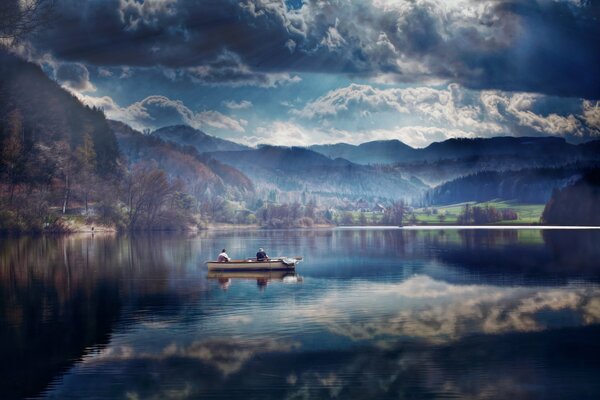
[(129, 164), (154, 161), (171, 178), (183, 181), (194, 195), (209, 189), (214, 194), (229, 193), (241, 198), (254, 191), (252, 182), (242, 172), (201, 156), (192, 146), (145, 135), (122, 122), (109, 121), (109, 124)]

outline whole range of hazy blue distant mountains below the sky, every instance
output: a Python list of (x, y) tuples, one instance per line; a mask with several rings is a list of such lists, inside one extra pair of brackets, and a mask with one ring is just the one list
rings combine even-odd
[[(350, 200), (440, 203), (475, 196), (543, 202), (554, 187), (600, 160), (600, 141), (574, 145), (556, 137), (458, 138), (418, 149), (399, 140), (254, 149), (185, 125), (151, 136), (192, 146), (205, 162), (244, 171), (263, 197), (275, 190)], [(561, 166), (568, 167), (556, 172)]]

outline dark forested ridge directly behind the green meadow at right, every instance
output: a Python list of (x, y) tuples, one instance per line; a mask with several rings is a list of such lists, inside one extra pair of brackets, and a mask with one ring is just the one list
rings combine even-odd
[(589, 164), (575, 163), (561, 168), (477, 172), (429, 190), (425, 194), (425, 203), (455, 204), (494, 199), (546, 203), (555, 188), (567, 185), (589, 168)]

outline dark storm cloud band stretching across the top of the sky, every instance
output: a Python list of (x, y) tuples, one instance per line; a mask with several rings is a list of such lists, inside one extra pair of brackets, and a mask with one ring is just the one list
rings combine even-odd
[(37, 45), (63, 60), (183, 69), (209, 83), (269, 86), (265, 74), (314, 71), (591, 99), (599, 3), (65, 0)]

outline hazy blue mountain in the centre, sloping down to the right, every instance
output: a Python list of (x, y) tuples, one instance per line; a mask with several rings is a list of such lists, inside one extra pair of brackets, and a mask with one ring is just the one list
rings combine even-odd
[(323, 198), (417, 199), (427, 188), (418, 180), (378, 166), (331, 159), (301, 147), (215, 152), (211, 157), (244, 171), (262, 190), (308, 192)]

